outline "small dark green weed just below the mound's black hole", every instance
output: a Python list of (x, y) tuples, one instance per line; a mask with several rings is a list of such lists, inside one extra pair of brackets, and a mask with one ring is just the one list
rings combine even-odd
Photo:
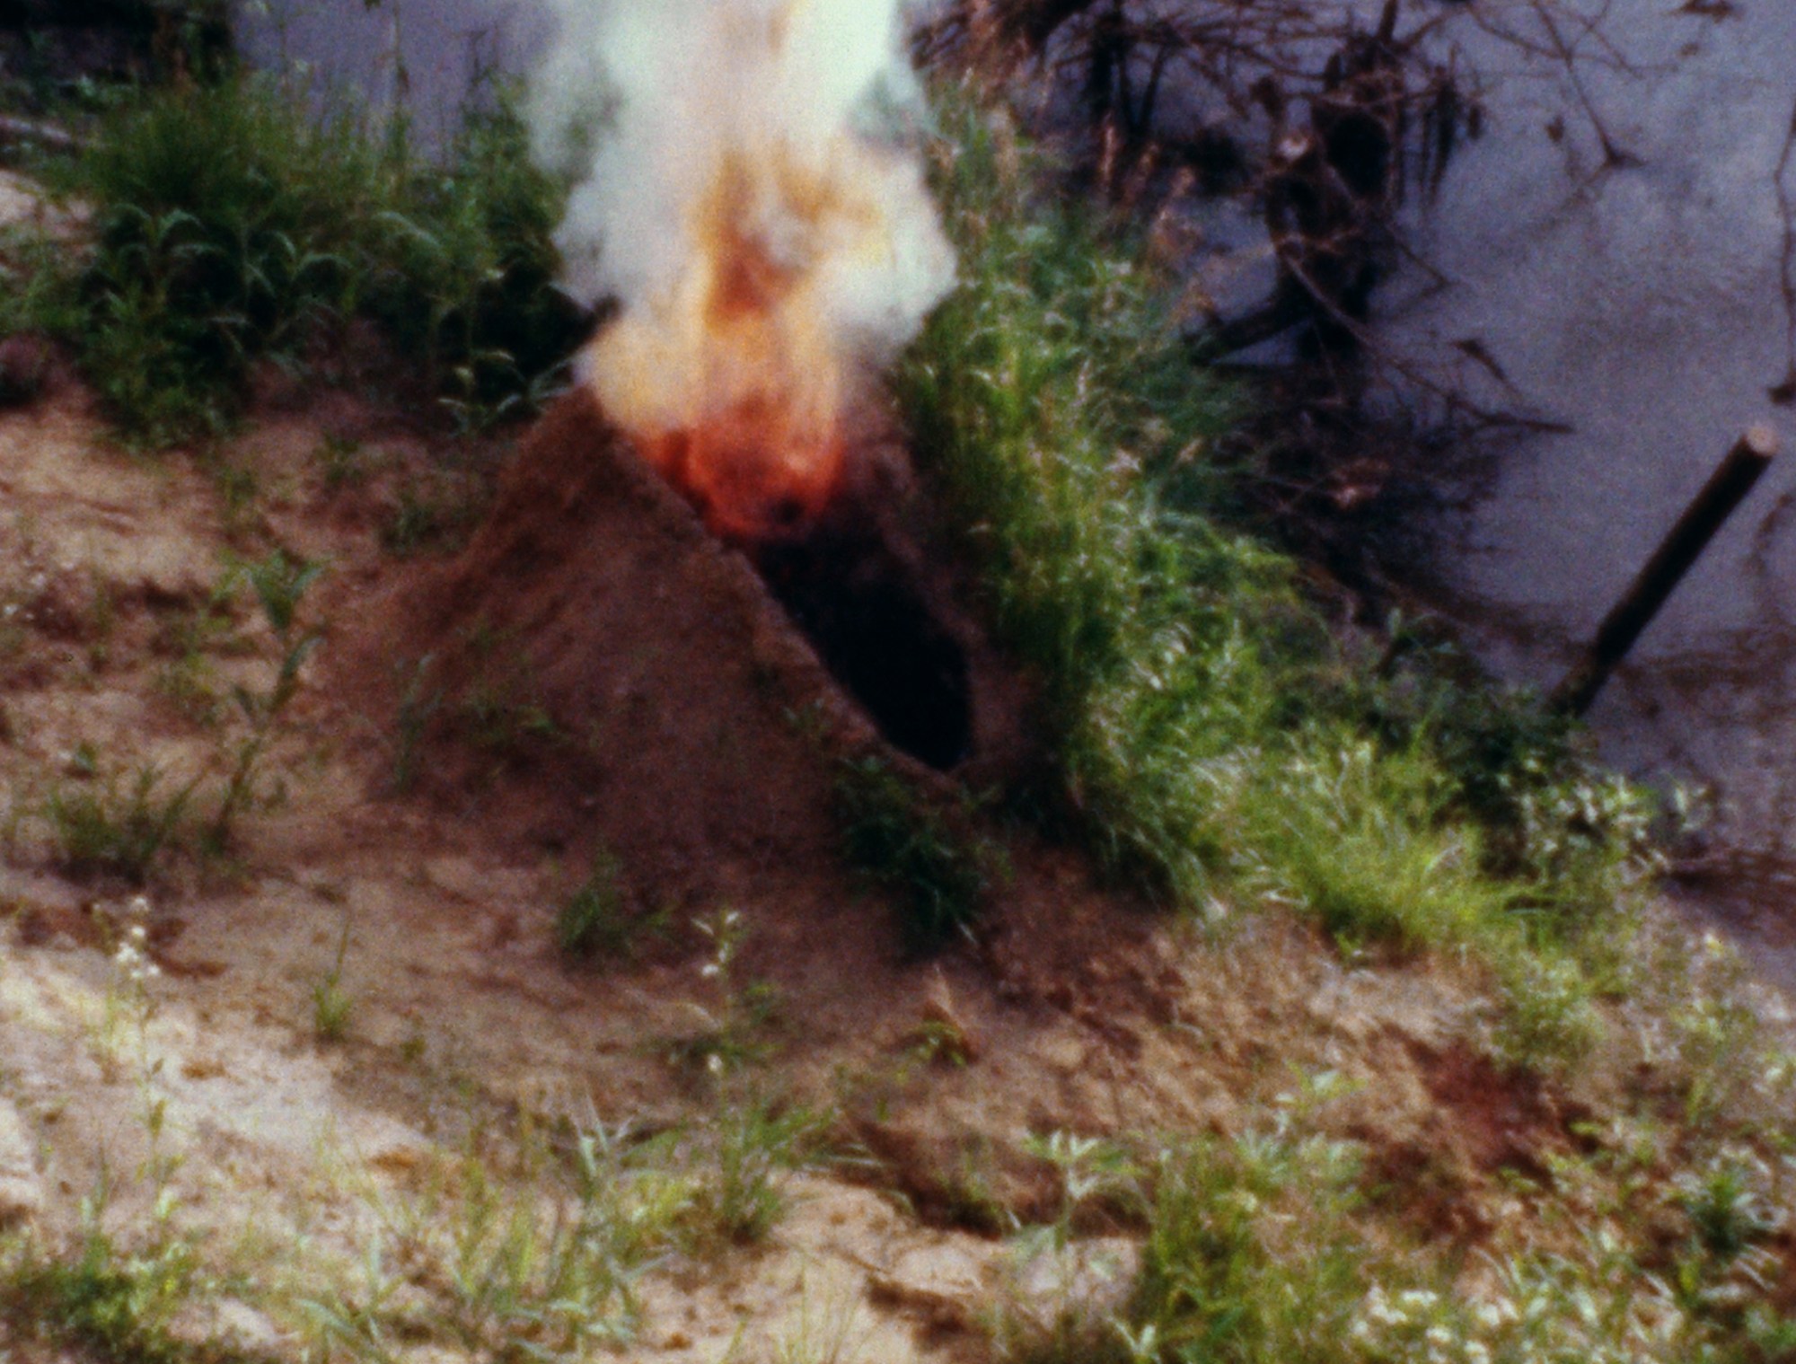
[(835, 806), (850, 865), (900, 897), (911, 946), (970, 931), (999, 860), (966, 811), (950, 813), (878, 756), (841, 759)]

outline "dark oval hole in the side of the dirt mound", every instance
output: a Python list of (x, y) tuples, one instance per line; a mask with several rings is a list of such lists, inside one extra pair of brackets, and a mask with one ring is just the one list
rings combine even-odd
[(887, 743), (943, 772), (968, 756), (966, 651), (891, 549), (866, 533), (819, 529), (763, 546), (756, 567)]

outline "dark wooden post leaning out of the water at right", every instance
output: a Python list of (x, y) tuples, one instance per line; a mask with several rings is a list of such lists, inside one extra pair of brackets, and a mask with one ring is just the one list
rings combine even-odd
[(1733, 443), (1728, 458), (1703, 485), (1703, 492), (1685, 508), (1677, 524), (1652, 551), (1652, 558), (1647, 560), (1640, 576), (1602, 617), (1584, 659), (1554, 687), (1546, 698), (1550, 709), (1566, 714), (1584, 714), (1589, 709), (1597, 693), (1602, 691), (1602, 684), (1609, 680), (1609, 673), (1627, 657), (1634, 641), (1640, 639), (1640, 632), (1652, 623), (1660, 607), (1708, 547), (1733, 508), (1753, 490), (1776, 452), (1778, 436), (1765, 425), (1751, 427)]

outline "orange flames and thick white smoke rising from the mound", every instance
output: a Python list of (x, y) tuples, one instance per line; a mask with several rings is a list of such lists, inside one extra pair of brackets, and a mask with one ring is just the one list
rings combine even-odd
[(575, 190), (568, 285), (618, 319), (584, 366), (718, 529), (841, 479), (867, 380), (954, 282), (903, 126), (900, 0), (555, 0), (537, 154)]

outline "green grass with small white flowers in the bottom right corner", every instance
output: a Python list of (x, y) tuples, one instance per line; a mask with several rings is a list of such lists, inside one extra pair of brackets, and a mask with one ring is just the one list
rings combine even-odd
[[(1654, 1143), (1606, 1132), (1552, 1156), (1530, 1186), (1543, 1226), (1473, 1256), (1455, 1237), (1392, 1224), (1365, 1194), (1365, 1150), (1318, 1122), (1318, 1075), (1234, 1136), (1112, 1147), (1056, 1132), (1033, 1145), (1063, 1176), (1051, 1226), (1018, 1233), (1027, 1271), (1076, 1249), (1094, 1204), (1144, 1228), (1124, 1294), (1065, 1292), (1000, 1308), (1002, 1357), (1033, 1364), (1521, 1364), (1787, 1360), (1796, 1321), (1780, 1272), (1774, 1159), (1744, 1149), (1676, 1174)], [(1519, 1204), (1518, 1204), (1519, 1206)], [(1069, 1285), (1070, 1287), (1070, 1285)], [(1121, 1285), (1119, 1285), (1121, 1287)]]

